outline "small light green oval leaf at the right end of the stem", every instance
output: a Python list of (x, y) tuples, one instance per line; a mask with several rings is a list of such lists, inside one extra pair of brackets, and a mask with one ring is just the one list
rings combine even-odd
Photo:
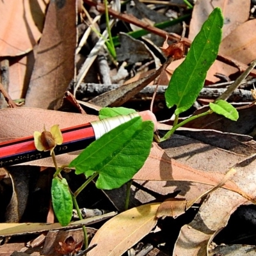
[(214, 103), (210, 103), (209, 106), (215, 113), (223, 115), (232, 121), (236, 121), (239, 118), (236, 108), (225, 100), (217, 100)]

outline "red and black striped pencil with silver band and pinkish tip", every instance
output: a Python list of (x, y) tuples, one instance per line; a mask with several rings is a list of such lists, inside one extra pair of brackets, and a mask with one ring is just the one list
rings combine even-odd
[[(152, 120), (156, 126), (156, 117), (154, 114), (150, 111), (143, 111), (141, 113), (115, 116), (88, 124), (61, 129), (63, 143), (54, 148), (54, 153), (60, 155), (82, 150), (106, 132), (139, 115), (143, 120)], [(26, 163), (45, 157), (50, 157), (50, 152), (36, 150), (34, 136), (0, 143), (0, 167)]]

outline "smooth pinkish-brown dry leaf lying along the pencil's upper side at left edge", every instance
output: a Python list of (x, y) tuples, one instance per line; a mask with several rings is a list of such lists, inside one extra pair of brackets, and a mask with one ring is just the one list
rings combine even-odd
[(31, 136), (35, 131), (59, 124), (60, 129), (99, 120), (97, 116), (65, 113), (61, 111), (15, 108), (1, 109), (0, 122), (4, 124), (0, 130), (0, 142)]

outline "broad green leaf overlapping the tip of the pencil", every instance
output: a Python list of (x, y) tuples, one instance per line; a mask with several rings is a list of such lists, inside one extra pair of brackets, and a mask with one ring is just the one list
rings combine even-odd
[(151, 121), (142, 122), (140, 116), (132, 118), (94, 141), (69, 166), (86, 177), (99, 173), (97, 188), (120, 188), (145, 163), (153, 134)]

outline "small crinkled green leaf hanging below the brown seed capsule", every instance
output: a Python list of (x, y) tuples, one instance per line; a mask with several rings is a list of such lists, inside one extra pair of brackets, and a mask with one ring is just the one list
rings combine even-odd
[(67, 226), (72, 218), (73, 202), (67, 180), (52, 179), (52, 205), (61, 226)]

